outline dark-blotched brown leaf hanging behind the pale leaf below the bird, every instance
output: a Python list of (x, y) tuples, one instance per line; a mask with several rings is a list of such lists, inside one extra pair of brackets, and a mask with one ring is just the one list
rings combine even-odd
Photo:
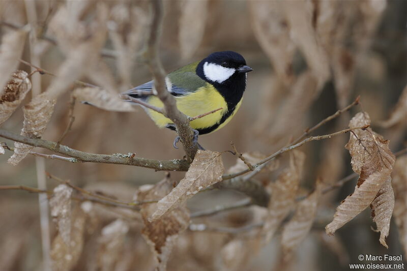
[[(172, 182), (169, 177), (164, 178), (147, 190), (139, 189), (137, 200), (154, 200), (166, 196), (172, 190)], [(159, 220), (150, 222), (148, 218), (157, 209), (158, 203), (144, 204), (141, 208), (141, 216), (144, 227), (141, 230), (146, 242), (149, 244), (155, 258), (158, 261), (158, 270), (165, 270), (169, 254), (175, 245), (180, 233), (189, 225), (189, 212), (184, 205), (164, 214)]]

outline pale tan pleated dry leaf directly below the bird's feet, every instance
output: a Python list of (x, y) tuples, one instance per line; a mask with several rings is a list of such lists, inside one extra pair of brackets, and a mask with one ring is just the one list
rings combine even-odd
[(149, 220), (154, 221), (161, 218), (200, 190), (220, 182), (223, 171), (220, 153), (211, 152), (210, 150), (198, 150), (185, 177), (168, 195), (157, 203), (157, 210)]

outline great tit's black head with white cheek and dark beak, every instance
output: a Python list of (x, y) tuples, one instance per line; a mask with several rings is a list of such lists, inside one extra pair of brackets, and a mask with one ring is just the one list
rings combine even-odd
[(246, 66), (243, 56), (233, 51), (211, 53), (196, 68), (196, 73), (203, 80), (219, 85), (246, 80), (246, 73), (250, 71), (252, 68)]

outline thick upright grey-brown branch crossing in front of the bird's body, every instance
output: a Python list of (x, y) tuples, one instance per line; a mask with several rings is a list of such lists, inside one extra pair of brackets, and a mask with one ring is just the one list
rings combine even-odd
[(166, 74), (159, 58), (159, 43), (163, 20), (162, 0), (151, 0), (150, 7), (150, 32), (147, 38), (147, 49), (144, 55), (147, 58), (150, 72), (153, 75), (157, 97), (164, 104), (165, 115), (167, 115), (176, 125), (177, 133), (181, 137), (181, 142), (187, 155), (187, 161), (191, 162), (198, 149), (192, 142), (194, 133), (189, 126), (188, 117), (178, 110), (175, 98), (166, 89)]

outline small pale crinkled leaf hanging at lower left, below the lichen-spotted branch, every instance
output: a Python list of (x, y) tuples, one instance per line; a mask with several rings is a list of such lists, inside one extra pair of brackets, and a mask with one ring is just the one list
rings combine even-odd
[(70, 246), (71, 236), (71, 195), (73, 189), (67, 185), (54, 188), (54, 196), (49, 200), (51, 217), (58, 225), (58, 234)]

